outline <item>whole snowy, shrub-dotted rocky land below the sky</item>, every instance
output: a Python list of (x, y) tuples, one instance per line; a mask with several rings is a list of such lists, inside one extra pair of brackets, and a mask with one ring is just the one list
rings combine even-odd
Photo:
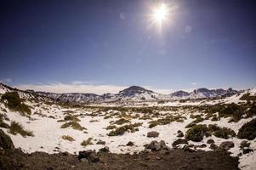
[(1, 168), (256, 168), (256, 88), (153, 93), (131, 87), (104, 95), (115, 102), (83, 103), (1, 84)]

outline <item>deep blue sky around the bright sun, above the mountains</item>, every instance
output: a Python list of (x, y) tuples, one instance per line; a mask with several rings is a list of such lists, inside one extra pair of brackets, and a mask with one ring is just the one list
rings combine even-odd
[[(159, 31), (149, 15), (162, 2), (172, 10)], [(0, 80), (98, 94), (130, 85), (253, 88), (255, 8), (247, 0), (3, 0)]]

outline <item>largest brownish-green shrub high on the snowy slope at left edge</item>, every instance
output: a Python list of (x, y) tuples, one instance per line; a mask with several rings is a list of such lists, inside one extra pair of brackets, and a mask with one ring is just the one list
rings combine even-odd
[(17, 92), (7, 92), (3, 94), (1, 100), (7, 100), (7, 106), (12, 111), (31, 115), (31, 109), (22, 103), (22, 99)]

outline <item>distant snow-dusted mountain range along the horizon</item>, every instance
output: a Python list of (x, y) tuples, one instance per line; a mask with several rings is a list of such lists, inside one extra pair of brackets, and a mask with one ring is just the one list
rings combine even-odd
[(68, 94), (54, 94), (46, 92), (35, 92), (33, 90), (22, 91), (15, 88), (10, 88), (3, 83), (0, 83), (0, 94), (9, 91), (19, 91), (20, 95), (28, 98), (33, 96), (54, 99), (61, 102), (78, 102), (78, 103), (93, 103), (93, 102), (115, 102), (115, 101), (157, 101), (157, 100), (174, 100), (174, 99), (205, 99), (216, 97), (227, 97), (237, 94), (238, 91), (228, 88), (227, 90), (197, 88), (191, 93), (185, 91), (177, 91), (172, 94), (158, 94), (151, 90), (141, 88), (139, 86), (131, 86), (120, 91), (118, 94), (81, 94), (81, 93), (68, 93)]

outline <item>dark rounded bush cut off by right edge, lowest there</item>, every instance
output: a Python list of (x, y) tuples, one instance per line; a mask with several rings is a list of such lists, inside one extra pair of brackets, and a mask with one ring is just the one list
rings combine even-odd
[(245, 123), (239, 129), (237, 133), (237, 138), (239, 139), (248, 139), (253, 140), (256, 137), (256, 119), (253, 119), (250, 122)]

